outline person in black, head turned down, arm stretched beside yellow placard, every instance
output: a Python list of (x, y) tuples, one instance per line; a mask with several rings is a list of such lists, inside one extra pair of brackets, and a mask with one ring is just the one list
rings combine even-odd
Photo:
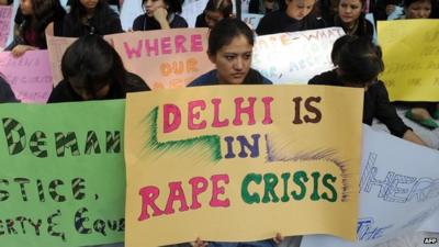
[(379, 46), (367, 38), (345, 35), (335, 42), (331, 59), (337, 68), (315, 76), (309, 85), (364, 88), (363, 123), (372, 125), (376, 117), (393, 135), (426, 146), (396, 114), (384, 83), (378, 80), (384, 70)]

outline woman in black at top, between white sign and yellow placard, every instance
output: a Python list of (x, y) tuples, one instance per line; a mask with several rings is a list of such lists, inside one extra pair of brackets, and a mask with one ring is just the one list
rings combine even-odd
[(365, 19), (365, 0), (338, 0), (337, 14), (327, 20), (330, 26), (341, 26), (346, 34), (373, 38), (373, 25)]

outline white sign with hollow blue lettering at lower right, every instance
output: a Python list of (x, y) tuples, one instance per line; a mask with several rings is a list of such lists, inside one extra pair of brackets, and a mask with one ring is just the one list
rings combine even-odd
[(301, 246), (365, 247), (416, 231), (439, 232), (438, 164), (437, 150), (364, 125), (357, 242), (305, 236)]

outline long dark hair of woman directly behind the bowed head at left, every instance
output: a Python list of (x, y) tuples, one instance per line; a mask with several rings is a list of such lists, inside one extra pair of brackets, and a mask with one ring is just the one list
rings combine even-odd
[[(82, 5), (80, 0), (70, 1), (70, 13), (71, 19), (75, 23), (71, 33), (81, 34), (82, 33), (82, 20), (87, 16), (87, 9)], [(109, 21), (109, 16), (114, 16), (116, 13), (110, 8), (105, 0), (99, 0), (93, 13), (93, 29), (91, 33), (98, 33), (104, 35), (103, 32)]]

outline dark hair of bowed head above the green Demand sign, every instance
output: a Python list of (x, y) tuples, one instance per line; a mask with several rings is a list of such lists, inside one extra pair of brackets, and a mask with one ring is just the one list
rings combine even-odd
[(123, 90), (127, 74), (116, 50), (97, 34), (81, 36), (67, 48), (61, 71), (70, 85), (92, 96), (106, 85)]

